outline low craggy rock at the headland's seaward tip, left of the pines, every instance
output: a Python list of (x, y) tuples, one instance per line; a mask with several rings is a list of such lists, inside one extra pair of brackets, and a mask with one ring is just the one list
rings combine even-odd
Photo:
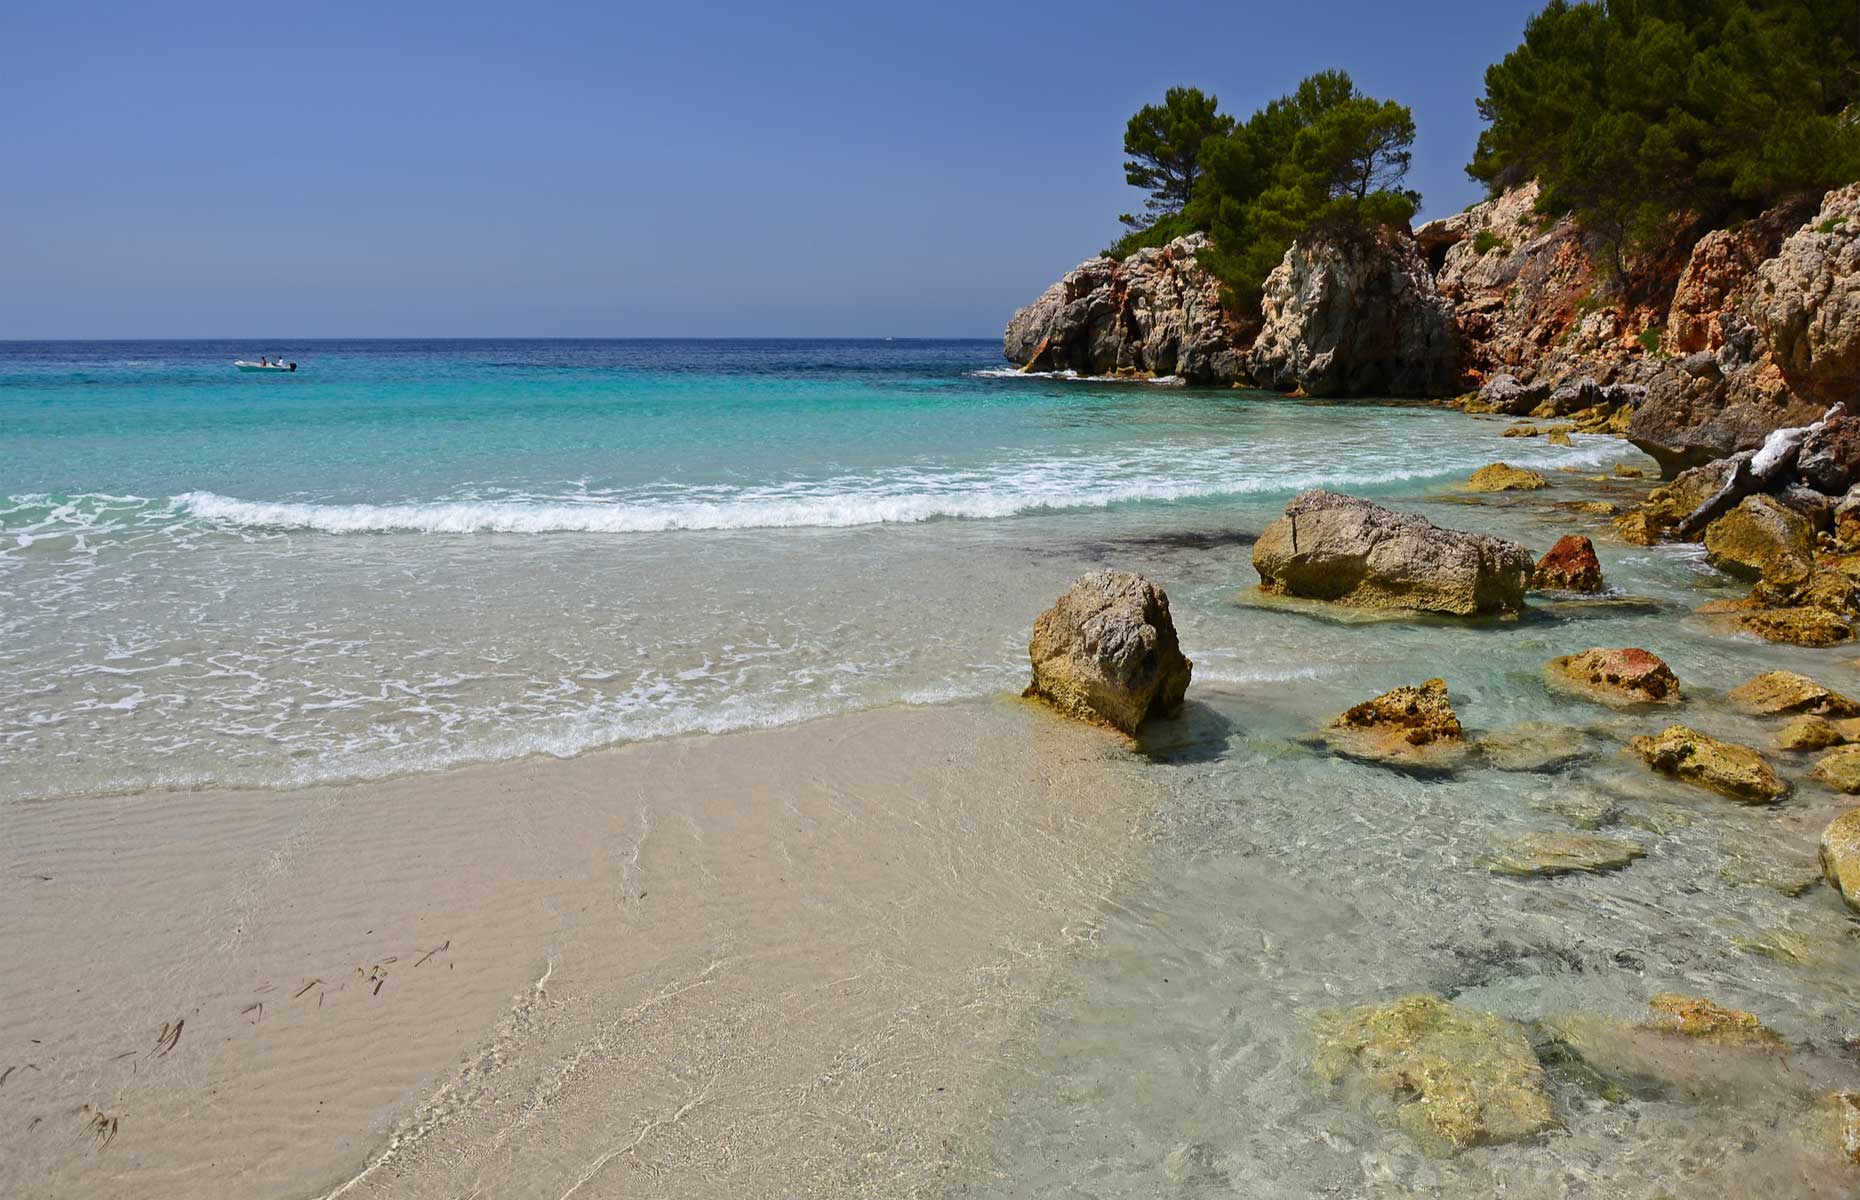
[(1081, 262), (1008, 320), (1003, 352), (1029, 370), (1239, 380), (1252, 329), (1222, 309), (1203, 249), (1198, 233), (1122, 262)]

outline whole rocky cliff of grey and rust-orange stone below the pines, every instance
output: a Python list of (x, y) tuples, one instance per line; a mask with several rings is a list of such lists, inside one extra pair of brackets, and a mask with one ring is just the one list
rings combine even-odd
[(1860, 407), (1860, 184), (1730, 229), (1676, 231), (1629, 264), (1527, 184), (1414, 236), (1313, 238), (1265, 283), (1261, 314), (1220, 303), (1177, 238), (1092, 259), (1008, 322), (1027, 368), (1177, 374), (1324, 396), (1436, 396), (1626, 430), (1668, 474), (1756, 447), (1828, 404)]

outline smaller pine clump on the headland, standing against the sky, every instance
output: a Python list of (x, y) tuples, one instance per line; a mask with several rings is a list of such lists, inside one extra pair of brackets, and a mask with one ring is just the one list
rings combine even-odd
[[(1142, 246), (1161, 246), (1190, 231), (1207, 231), (1213, 246), (1203, 262), (1226, 285), (1229, 303), (1257, 303), (1265, 277), (1285, 257), (1295, 238), (1313, 231), (1334, 236), (1360, 234), (1378, 225), (1406, 227), (1419, 195), (1402, 188), (1414, 147), (1414, 115), (1393, 100), (1376, 100), (1356, 89), (1343, 71), (1322, 71), (1272, 100), (1244, 125), (1200, 110), (1200, 91), (1172, 87), (1162, 106), (1146, 106), (1131, 117), (1133, 136), (1166, 125), (1170, 110), (1183, 115), (1179, 130), (1226, 125), (1205, 136), (1192, 169), (1179, 167), (1166, 186), (1155, 186), (1148, 221), (1125, 218), (1133, 233), (1110, 247), (1122, 257)], [(1192, 117), (1192, 119), (1189, 119)], [(1148, 132), (1140, 145), (1149, 147)], [(1187, 134), (1168, 134), (1159, 143), (1179, 147)], [(1136, 154), (1136, 151), (1131, 151)], [(1148, 162), (1148, 160), (1144, 160)], [(1138, 164), (1125, 164), (1125, 179), (1151, 186)], [(1179, 208), (1179, 179), (1192, 175), (1192, 190)]]

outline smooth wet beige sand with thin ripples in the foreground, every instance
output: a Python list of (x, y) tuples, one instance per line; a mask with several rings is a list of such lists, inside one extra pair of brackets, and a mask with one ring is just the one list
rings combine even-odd
[(1001, 700), (7, 813), (7, 1196), (936, 1191), (1149, 791)]

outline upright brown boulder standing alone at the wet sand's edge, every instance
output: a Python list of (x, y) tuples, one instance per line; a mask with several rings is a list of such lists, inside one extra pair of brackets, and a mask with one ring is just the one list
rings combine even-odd
[(1194, 666), (1176, 640), (1168, 595), (1129, 571), (1081, 577), (1034, 621), (1027, 653), (1027, 696), (1123, 733), (1177, 713)]

